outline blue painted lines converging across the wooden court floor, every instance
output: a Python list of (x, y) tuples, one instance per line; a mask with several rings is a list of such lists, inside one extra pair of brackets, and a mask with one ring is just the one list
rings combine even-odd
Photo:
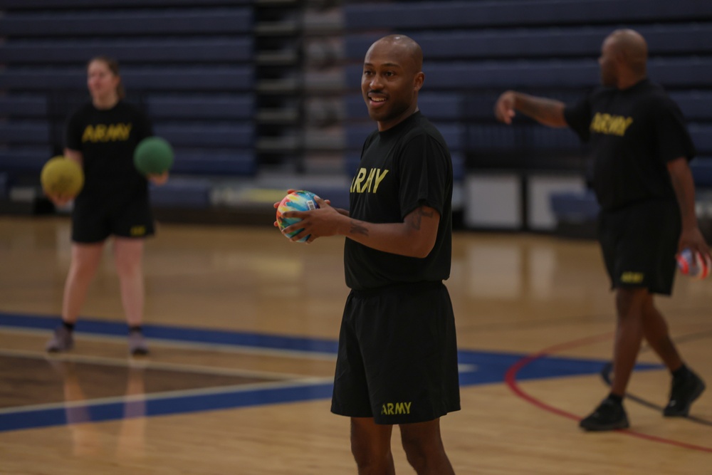
[[(52, 330), (59, 323), (58, 317), (43, 315), (23, 315), (18, 313), (0, 313), (0, 326), (36, 330)], [(83, 319), (76, 326), (77, 333), (90, 335), (126, 335), (125, 323), (104, 320)], [(207, 343), (216, 345), (234, 345), (272, 350), (299, 350), (306, 353), (337, 353), (337, 342), (318, 338), (300, 338), (286, 335), (265, 335), (223, 330), (204, 330), (199, 328), (177, 327), (169, 325), (145, 325), (148, 338), (174, 340), (183, 343)], [(460, 372), (461, 386), (493, 384), (504, 381), (509, 367), (525, 357), (523, 353), (498, 353), (473, 350), (459, 350), (458, 361), (465, 367), (475, 369)], [(537, 380), (553, 377), (598, 374), (607, 360), (587, 360), (582, 358), (542, 357), (521, 370), (518, 380)], [(656, 370), (661, 365), (639, 364), (636, 370)], [(288, 387), (255, 388), (224, 392), (216, 387), (215, 392), (203, 392), (197, 395), (166, 395), (165, 397), (145, 400), (146, 417), (184, 414), (236, 407), (252, 407), (266, 404), (300, 402), (325, 399), (331, 396), (333, 385), (324, 383), (295, 382)], [(133, 402), (88, 401), (84, 406), (88, 419), (93, 422), (123, 419), (127, 404)], [(48, 409), (23, 410), (0, 413), (0, 432), (38, 427), (50, 427), (68, 424), (67, 414), (77, 411), (76, 405), (70, 408), (54, 407)]]

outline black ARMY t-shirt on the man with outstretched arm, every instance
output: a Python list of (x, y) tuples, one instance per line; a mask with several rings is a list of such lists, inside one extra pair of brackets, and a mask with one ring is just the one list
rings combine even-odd
[(667, 163), (695, 148), (680, 108), (645, 79), (626, 90), (596, 88), (567, 106), (568, 125), (592, 145), (593, 186), (602, 209), (675, 199)]

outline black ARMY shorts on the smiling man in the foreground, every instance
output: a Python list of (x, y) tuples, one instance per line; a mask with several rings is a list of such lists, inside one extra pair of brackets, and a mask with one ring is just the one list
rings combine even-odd
[(455, 318), (443, 283), (351, 291), (331, 411), (406, 424), (459, 409)]

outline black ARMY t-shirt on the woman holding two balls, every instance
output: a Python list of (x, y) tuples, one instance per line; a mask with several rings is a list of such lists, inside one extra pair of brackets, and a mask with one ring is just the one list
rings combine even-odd
[(87, 103), (67, 122), (66, 147), (83, 155), (85, 186), (80, 198), (147, 193), (147, 181), (133, 164), (133, 151), (153, 135), (146, 115), (119, 101), (111, 109)]

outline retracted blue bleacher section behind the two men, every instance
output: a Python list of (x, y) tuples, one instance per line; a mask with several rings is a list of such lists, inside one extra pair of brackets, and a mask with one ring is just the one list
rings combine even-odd
[[(521, 115), (502, 125), (493, 105), (507, 89), (565, 103), (582, 97), (598, 83), (602, 41), (617, 28), (646, 38), (649, 76), (680, 105), (703, 157), (693, 172), (702, 174), (704, 157), (712, 157), (712, 2), (348, 1), (344, 18), (345, 81), (352, 91), (345, 98), (347, 137), (361, 133), (365, 117), (359, 91), (367, 48), (387, 33), (411, 36), (424, 53), (421, 110), (439, 126), (459, 130), (472, 227), (555, 229), (549, 195), (557, 193), (590, 216), (589, 165), (576, 135)], [(501, 184), (502, 196), (491, 194), (493, 183)], [(572, 211), (567, 204), (558, 209)]]

